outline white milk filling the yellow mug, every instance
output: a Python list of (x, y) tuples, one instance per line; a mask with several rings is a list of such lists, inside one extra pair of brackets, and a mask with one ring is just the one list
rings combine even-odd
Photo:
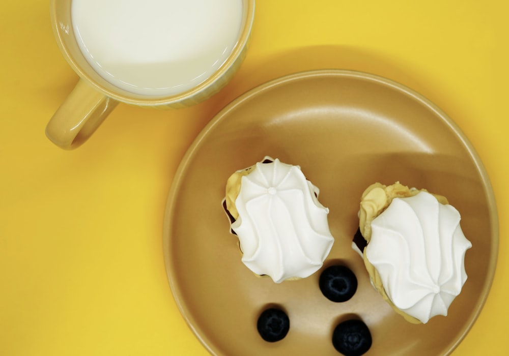
[(231, 54), (242, 0), (72, 0), (81, 52), (110, 83), (135, 94), (179, 94)]

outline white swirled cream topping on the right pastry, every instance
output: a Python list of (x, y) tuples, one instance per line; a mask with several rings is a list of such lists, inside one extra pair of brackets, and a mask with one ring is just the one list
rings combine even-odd
[(427, 192), (394, 198), (376, 217), (366, 257), (391, 302), (422, 323), (447, 310), (467, 279), (465, 252), (472, 244), (460, 214)]

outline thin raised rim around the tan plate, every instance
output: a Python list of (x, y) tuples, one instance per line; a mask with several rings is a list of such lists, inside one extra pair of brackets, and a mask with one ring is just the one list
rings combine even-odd
[[(246, 91), (245, 93), (239, 95), (237, 98), (232, 100), (230, 103), (228, 103), (226, 106), (224, 106), (219, 112), (217, 112), (211, 120), (204, 126), (204, 128), (200, 131), (199, 134), (193, 139), (191, 144), (189, 145), (188, 149), (186, 150), (182, 160), (180, 161), (177, 170), (175, 171), (175, 175), (173, 178), (173, 181), (171, 183), (171, 187), (169, 188), (169, 192), (167, 194), (167, 200), (165, 205), (165, 211), (164, 211), (164, 220), (163, 220), (163, 258), (164, 258), (164, 265), (166, 270), (166, 276), (169, 283), (169, 287), (171, 289), (174, 301), (179, 309), (179, 312), (181, 316), (184, 318), (186, 324), (188, 325), (189, 329), (193, 332), (194, 336), (200, 341), (200, 343), (212, 354), (212, 355), (223, 355), (222, 353), (216, 353), (215, 350), (211, 347), (214, 343), (211, 342), (211, 340), (206, 336), (202, 335), (197, 331), (197, 328), (194, 326), (194, 320), (189, 315), (189, 313), (186, 312), (186, 308), (184, 306), (183, 296), (180, 288), (175, 283), (176, 274), (171, 266), (171, 251), (172, 244), (171, 241), (171, 234), (169, 231), (171, 231), (171, 217), (173, 215), (173, 212), (175, 210), (175, 197), (178, 193), (178, 188), (180, 186), (180, 183), (182, 182), (184, 172), (186, 171), (190, 159), (193, 156), (193, 153), (199, 149), (201, 146), (201, 143), (203, 139), (208, 135), (208, 133), (219, 123), (223, 120), (225, 116), (228, 115), (229, 112), (233, 111), (235, 108), (237, 108), (239, 105), (241, 105), (243, 102), (250, 100), (253, 97), (262, 95), (264, 92), (269, 91), (271, 88), (276, 86), (282, 86), (289, 82), (293, 82), (296, 80), (303, 80), (303, 79), (309, 79), (309, 78), (317, 78), (317, 77), (348, 77), (353, 79), (359, 79), (359, 80), (369, 80), (372, 82), (376, 82), (378, 84), (381, 84), (383, 86), (389, 87), (392, 90), (398, 91), (401, 94), (404, 94), (406, 96), (411, 97), (412, 99), (418, 101), (420, 104), (425, 105), (428, 107), (431, 111), (435, 113), (440, 120), (446, 124), (451, 131), (461, 140), (463, 146), (467, 150), (468, 154), (472, 158), (473, 163), (475, 164), (475, 167), (480, 175), (480, 179), (483, 182), (483, 190), (485, 192), (485, 195), (487, 197), (487, 203), (488, 206), (490, 206), (490, 210), (492, 214), (490, 214), (490, 226), (492, 226), (492, 236), (494, 239), (491, 241), (491, 248), (490, 253), (491, 256), (494, 258), (491, 258), (488, 263), (488, 276), (489, 279), (485, 282), (483, 285), (483, 289), (481, 293), (479, 294), (479, 303), (477, 304), (476, 308), (472, 311), (473, 317), (469, 320), (468, 323), (463, 325), (463, 328), (460, 329), (461, 335), (456, 340), (453, 340), (449, 344), (448, 350), (443, 355), (449, 355), (451, 352), (453, 352), (458, 345), (463, 341), (463, 339), (466, 337), (468, 332), (471, 330), (473, 324), (479, 317), (480, 312), (482, 311), (484, 305), (486, 304), (489, 292), (491, 290), (491, 287), (493, 285), (495, 272), (496, 272), (496, 265), (498, 260), (498, 253), (499, 253), (499, 220), (498, 220), (498, 209), (497, 204), (495, 200), (495, 195), (493, 192), (493, 186), (491, 184), (491, 181), (488, 176), (488, 172), (480, 159), (480, 156), (474, 149), (473, 144), (470, 142), (470, 140), (467, 138), (467, 136), (463, 133), (463, 131), (460, 129), (460, 127), (454, 122), (452, 118), (450, 118), (442, 109), (440, 109), (436, 104), (434, 104), (431, 100), (426, 98), (425, 96), (417, 93), (410, 87), (401, 84), (397, 81), (394, 81), (392, 79), (388, 79), (386, 77), (367, 73), (367, 72), (361, 72), (361, 71), (355, 71), (355, 70), (345, 70), (345, 69), (318, 69), (318, 70), (306, 70), (306, 71), (299, 71), (292, 74), (287, 74), (284, 76), (280, 76), (274, 79), (271, 79), (269, 81), (266, 81), (262, 84), (259, 84), (257, 86), (252, 87), (250, 90)], [(225, 354), (224, 354), (225, 355)]]

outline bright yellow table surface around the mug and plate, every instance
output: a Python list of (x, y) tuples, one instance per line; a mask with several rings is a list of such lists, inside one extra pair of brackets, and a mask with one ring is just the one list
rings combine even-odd
[(246, 60), (219, 94), (180, 110), (120, 104), (75, 151), (44, 135), (77, 81), (54, 41), (48, 3), (9, 1), (0, 11), (0, 354), (208, 354), (164, 269), (173, 176), (231, 100), (320, 68), (401, 82), (473, 143), (497, 199), (499, 259), (486, 306), (453, 354), (509, 354), (506, 2), (258, 0)]

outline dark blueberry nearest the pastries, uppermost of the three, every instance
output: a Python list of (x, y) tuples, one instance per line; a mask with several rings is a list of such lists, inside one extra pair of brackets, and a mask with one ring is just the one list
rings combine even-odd
[(332, 302), (346, 302), (357, 290), (357, 278), (343, 265), (332, 265), (320, 275), (320, 290)]

